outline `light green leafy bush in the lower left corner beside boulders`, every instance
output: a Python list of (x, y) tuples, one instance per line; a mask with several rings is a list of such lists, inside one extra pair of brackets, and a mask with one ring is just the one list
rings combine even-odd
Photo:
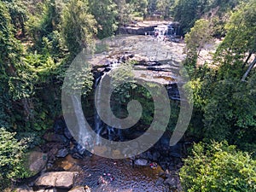
[(15, 139), (15, 133), (0, 128), (0, 185), (2, 189), (16, 178), (27, 176), (22, 162), (25, 149), (26, 141), (18, 141)]

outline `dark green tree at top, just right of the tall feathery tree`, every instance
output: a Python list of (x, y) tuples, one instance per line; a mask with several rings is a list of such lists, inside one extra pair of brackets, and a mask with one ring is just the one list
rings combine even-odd
[(94, 15), (97, 21), (97, 36), (107, 38), (117, 30), (117, 5), (112, 0), (89, 1), (90, 13)]

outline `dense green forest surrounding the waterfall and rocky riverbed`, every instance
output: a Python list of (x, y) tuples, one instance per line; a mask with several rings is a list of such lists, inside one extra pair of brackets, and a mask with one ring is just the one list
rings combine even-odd
[[(254, 0), (2, 0), (0, 190), (26, 170), (26, 152), (61, 117), (61, 85), (79, 52), (138, 20), (183, 28), (196, 142), (180, 171), (184, 191), (256, 190)], [(198, 65), (205, 44), (221, 43)], [(92, 74), (84, 86), (92, 86)]]

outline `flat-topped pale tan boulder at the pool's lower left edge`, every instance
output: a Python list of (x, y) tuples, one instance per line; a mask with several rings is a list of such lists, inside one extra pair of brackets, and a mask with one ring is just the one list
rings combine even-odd
[(78, 172), (46, 172), (38, 177), (35, 186), (44, 188), (71, 189)]

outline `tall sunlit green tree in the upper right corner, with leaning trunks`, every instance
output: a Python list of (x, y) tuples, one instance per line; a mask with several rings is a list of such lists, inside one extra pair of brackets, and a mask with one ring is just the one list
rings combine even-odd
[[(251, 63), (248, 63), (248, 61), (256, 52), (255, 9), (255, 1), (242, 3), (239, 9), (231, 15), (230, 22), (225, 26), (227, 35), (218, 47), (216, 54), (216, 60), (219, 64), (222, 64), (223, 75), (232, 73), (237, 69), (239, 72), (236, 70), (237, 73), (230, 75), (234, 75), (238, 79), (245, 79), (247, 77), (245, 74), (253, 68), (253, 61)], [(230, 65), (227, 65), (227, 63), (230, 63)], [(231, 68), (233, 70), (230, 70)], [(247, 69), (249, 70), (247, 71)]]

